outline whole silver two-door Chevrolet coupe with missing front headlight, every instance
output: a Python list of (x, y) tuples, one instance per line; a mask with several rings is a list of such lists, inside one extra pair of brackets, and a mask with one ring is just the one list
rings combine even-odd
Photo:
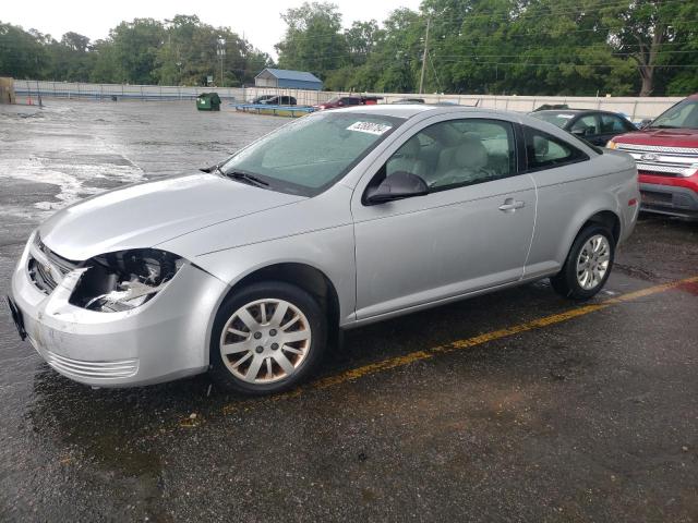
[(51, 367), (97, 387), (208, 370), (276, 392), (341, 329), (542, 278), (589, 299), (638, 214), (629, 156), (474, 108), (324, 111), (205, 171), (85, 199), (32, 234), (9, 302)]

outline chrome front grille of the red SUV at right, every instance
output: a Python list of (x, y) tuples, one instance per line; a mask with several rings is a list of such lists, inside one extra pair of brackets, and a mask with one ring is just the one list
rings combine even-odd
[(698, 171), (698, 148), (663, 147), (659, 145), (617, 144), (629, 154), (637, 170), (661, 177), (690, 177)]

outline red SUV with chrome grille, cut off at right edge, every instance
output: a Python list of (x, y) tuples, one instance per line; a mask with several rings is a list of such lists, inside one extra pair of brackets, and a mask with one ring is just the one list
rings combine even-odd
[(698, 94), (607, 146), (635, 158), (642, 210), (698, 219)]

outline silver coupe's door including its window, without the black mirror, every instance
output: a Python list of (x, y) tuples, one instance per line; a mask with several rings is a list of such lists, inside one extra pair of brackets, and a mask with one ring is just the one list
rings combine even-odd
[[(537, 195), (518, 172), (517, 125), (437, 120), (389, 147), (354, 191), (359, 320), (522, 276)], [(429, 194), (368, 205), (366, 187), (396, 171), (423, 178)]]

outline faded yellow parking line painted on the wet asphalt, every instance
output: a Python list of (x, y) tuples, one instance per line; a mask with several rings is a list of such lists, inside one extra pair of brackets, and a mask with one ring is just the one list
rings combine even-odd
[[(698, 282), (698, 276), (694, 276), (683, 280), (672, 281), (670, 283), (663, 283), (661, 285), (648, 287), (647, 289), (628, 292), (626, 294), (622, 294), (616, 297), (604, 300), (603, 302), (598, 304), (585, 305), (581, 307), (565, 311), (564, 313), (553, 314), (551, 316), (544, 316), (542, 318), (533, 319), (525, 324), (515, 325), (513, 327), (506, 327), (504, 329), (493, 330), (492, 332), (485, 332), (483, 335), (473, 336), (472, 338), (452, 341), (450, 343), (446, 343), (444, 345), (432, 346), (430, 349), (425, 349), (422, 351), (416, 351), (416, 352), (410, 352), (408, 354), (404, 354), (400, 356), (388, 357), (380, 362), (370, 363), (368, 365), (362, 365), (356, 368), (350, 368), (349, 370), (345, 370), (344, 373), (337, 374), (335, 376), (327, 376), (325, 378), (320, 378), (315, 381), (312, 381), (305, 386), (301, 386), (289, 392), (269, 397), (266, 400), (276, 402), (279, 400), (294, 398), (306, 390), (322, 390), (328, 387), (335, 387), (337, 385), (346, 384), (347, 381), (353, 381), (364, 376), (383, 373), (385, 370), (389, 370), (397, 367), (404, 367), (406, 365), (409, 365), (410, 363), (419, 362), (422, 360), (429, 360), (438, 354), (444, 354), (447, 352), (454, 352), (462, 349), (470, 349), (472, 346), (482, 345), (484, 343), (501, 340), (503, 338), (508, 338), (509, 336), (518, 335), (520, 332), (526, 332), (533, 329), (540, 329), (542, 327), (549, 327), (551, 325), (567, 321), (568, 319), (577, 318), (579, 316), (586, 316), (587, 314), (595, 313), (597, 311), (611, 307), (612, 305), (630, 302), (633, 300), (638, 300), (640, 297), (650, 296), (652, 294), (658, 294), (660, 292), (665, 292), (671, 289), (676, 289), (678, 287), (682, 287), (688, 283), (697, 283), (697, 282)], [(224, 406), (224, 413), (229, 414), (231, 412), (249, 410), (252, 406), (258, 406), (263, 402), (265, 402), (264, 399), (262, 400), (257, 399), (257, 400), (244, 400), (240, 402), (230, 403)]]

